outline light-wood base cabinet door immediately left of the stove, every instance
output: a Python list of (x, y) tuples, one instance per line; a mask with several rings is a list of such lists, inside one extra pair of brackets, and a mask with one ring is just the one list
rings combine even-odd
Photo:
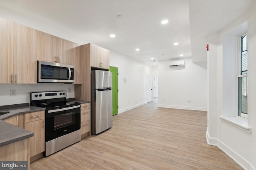
[(44, 119), (25, 123), (24, 129), (34, 133), (30, 138), (30, 157), (44, 152)]

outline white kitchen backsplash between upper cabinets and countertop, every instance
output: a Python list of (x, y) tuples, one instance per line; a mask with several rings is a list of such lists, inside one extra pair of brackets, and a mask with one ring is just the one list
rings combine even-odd
[[(11, 90), (16, 90), (16, 96), (11, 96)], [(75, 97), (74, 84), (0, 84), (0, 106), (30, 103), (30, 92), (45, 92), (58, 90), (66, 90), (67, 98)]]

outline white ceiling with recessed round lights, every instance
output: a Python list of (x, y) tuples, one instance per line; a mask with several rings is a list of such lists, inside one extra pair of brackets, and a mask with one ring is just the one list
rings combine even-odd
[[(181, 54), (192, 57), (193, 62), (206, 61), (207, 35), (218, 32), (255, 2), (0, 0), (0, 17), (79, 44), (93, 43), (110, 49), (110, 53), (114, 50), (143, 63), (157, 65), (160, 60), (182, 59)], [(169, 22), (161, 24), (162, 20)], [(136, 48), (140, 51), (135, 51)]]

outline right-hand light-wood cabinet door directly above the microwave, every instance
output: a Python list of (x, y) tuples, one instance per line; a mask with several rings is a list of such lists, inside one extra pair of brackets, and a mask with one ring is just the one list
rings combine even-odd
[(57, 57), (57, 63), (73, 65), (71, 41), (57, 37)]

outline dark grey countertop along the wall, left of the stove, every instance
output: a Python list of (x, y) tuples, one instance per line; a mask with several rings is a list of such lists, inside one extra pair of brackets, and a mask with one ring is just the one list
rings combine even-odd
[[(7, 119), (9, 117), (19, 115), (19, 114), (22, 114), (22, 113), (30, 113), (30, 112), (42, 111), (42, 110), (45, 110), (45, 108), (36, 107), (36, 106), (22, 106), (22, 107), (8, 108), (8, 109), (0, 109), (0, 112), (10, 111), (10, 113), (0, 115), (0, 120), (4, 120), (4, 119)], [(0, 129), (0, 131), (2, 131), (2, 130)]]

